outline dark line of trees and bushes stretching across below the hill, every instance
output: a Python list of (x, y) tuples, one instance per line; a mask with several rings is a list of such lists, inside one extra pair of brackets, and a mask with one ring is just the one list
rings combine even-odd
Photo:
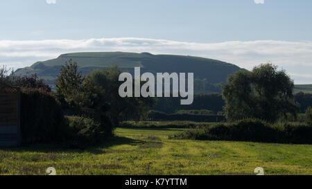
[(223, 84), (222, 94), (196, 94), (189, 106), (180, 105), (178, 98), (121, 98), (120, 73), (114, 66), (83, 75), (78, 72), (77, 63), (69, 60), (60, 69), (54, 92), (37, 75), (16, 77), (3, 67), (0, 87), (21, 87), (22, 132), (29, 137), (24, 138), (26, 143), (58, 141), (64, 136), (76, 138), (71, 140), (76, 143), (95, 143), (112, 136), (123, 120), (146, 119), (149, 109), (177, 116), (180, 110), (186, 110), (182, 113), (189, 117), (196, 110), (209, 110), (209, 114), (224, 114), (229, 122), (259, 118), (269, 123), (306, 111), (306, 122), (311, 123), (312, 95), (294, 95), (293, 80), (272, 64), (237, 71)]

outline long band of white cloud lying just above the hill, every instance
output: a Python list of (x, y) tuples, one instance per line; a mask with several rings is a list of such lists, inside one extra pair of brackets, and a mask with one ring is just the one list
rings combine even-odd
[[(250, 41), (195, 43), (135, 37), (103, 39), (53, 39), (37, 41), (0, 40), (0, 64), (15, 69), (49, 60), (62, 53), (83, 51), (150, 52), (209, 57), (252, 69), (272, 62), (292, 73), (295, 82), (312, 83), (312, 42)], [(300, 77), (301, 76), (301, 77)]]

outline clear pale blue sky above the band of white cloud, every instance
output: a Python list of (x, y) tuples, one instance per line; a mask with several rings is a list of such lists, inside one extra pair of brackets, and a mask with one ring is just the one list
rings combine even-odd
[(311, 0), (10, 0), (0, 39), (312, 40), (311, 9)]

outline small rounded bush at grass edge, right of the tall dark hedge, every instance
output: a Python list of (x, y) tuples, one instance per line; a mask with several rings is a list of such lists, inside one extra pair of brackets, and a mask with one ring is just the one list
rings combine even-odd
[(95, 145), (105, 138), (101, 123), (96, 123), (91, 118), (70, 116), (70, 138), (73, 145)]

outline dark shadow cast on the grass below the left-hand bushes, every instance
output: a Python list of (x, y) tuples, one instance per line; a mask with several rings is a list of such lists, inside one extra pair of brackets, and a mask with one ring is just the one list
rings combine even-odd
[(43, 152), (43, 153), (85, 153), (103, 154), (105, 148), (115, 145), (141, 145), (144, 141), (127, 138), (123, 136), (112, 136), (111, 138), (99, 143), (98, 145), (88, 147), (72, 147), (70, 144), (36, 144), (22, 147), (0, 147), (4, 152)]

